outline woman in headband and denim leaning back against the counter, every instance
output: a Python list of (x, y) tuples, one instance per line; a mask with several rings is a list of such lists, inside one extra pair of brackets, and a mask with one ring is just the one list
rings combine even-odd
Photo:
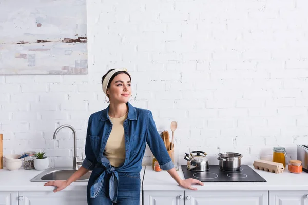
[(139, 204), (141, 161), (146, 143), (160, 167), (180, 186), (197, 190), (191, 185), (203, 185), (199, 180), (179, 177), (151, 111), (128, 103), (132, 95), (126, 69), (109, 70), (103, 76), (102, 85), (110, 105), (89, 118), (82, 166), (68, 180), (50, 181), (45, 186), (56, 186), (54, 192), (60, 191), (92, 170), (87, 186), (88, 204)]

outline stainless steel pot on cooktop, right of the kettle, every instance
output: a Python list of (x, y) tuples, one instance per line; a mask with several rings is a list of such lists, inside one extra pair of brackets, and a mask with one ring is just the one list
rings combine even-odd
[(218, 154), (219, 167), (225, 171), (239, 171), (243, 156), (235, 152), (222, 152)]

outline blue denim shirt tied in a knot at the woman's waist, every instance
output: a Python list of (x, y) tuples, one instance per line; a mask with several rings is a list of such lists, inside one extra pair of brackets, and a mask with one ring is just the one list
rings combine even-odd
[(103, 154), (112, 129), (112, 123), (108, 115), (109, 106), (102, 111), (93, 113), (89, 118), (85, 147), (86, 158), (82, 166), (93, 170), (93, 172), (95, 170), (96, 172), (102, 172), (94, 182), (88, 185), (90, 186), (91, 198), (95, 198), (101, 191), (104, 176), (108, 173), (111, 174), (109, 196), (115, 202), (118, 194), (118, 172), (139, 173), (141, 171), (141, 162), (146, 143), (158, 160), (161, 169), (169, 170), (174, 167), (164, 142), (157, 131), (151, 111), (135, 108), (130, 103), (127, 103), (127, 105), (128, 115), (123, 123), (126, 157), (124, 163), (119, 167), (111, 166), (109, 160)]

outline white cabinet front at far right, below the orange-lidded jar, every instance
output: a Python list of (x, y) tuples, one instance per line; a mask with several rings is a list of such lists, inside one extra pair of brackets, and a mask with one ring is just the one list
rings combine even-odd
[(269, 191), (269, 205), (308, 205), (308, 191)]

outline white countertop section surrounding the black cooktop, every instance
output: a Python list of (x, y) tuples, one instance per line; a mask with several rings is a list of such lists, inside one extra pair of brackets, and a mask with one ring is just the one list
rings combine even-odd
[[(288, 172), (286, 168), (283, 173), (275, 174), (267, 171), (257, 170), (249, 165), (267, 182), (204, 182), (204, 186), (193, 185), (199, 191), (235, 191), (235, 190), (308, 190), (308, 173), (302, 172), (294, 174)], [(286, 166), (287, 167), (287, 166)], [(177, 171), (179, 176), (184, 179), (180, 166)], [(143, 191), (177, 191), (188, 190), (180, 187), (177, 182), (168, 174), (167, 171), (155, 172), (152, 166), (146, 166)]]

